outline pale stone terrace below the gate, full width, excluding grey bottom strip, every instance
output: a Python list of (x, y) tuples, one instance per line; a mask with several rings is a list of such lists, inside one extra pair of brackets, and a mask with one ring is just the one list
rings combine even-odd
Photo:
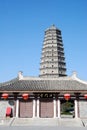
[(71, 118), (4, 118), (0, 119), (0, 126), (48, 126), (48, 127), (81, 127), (87, 128), (87, 119)]

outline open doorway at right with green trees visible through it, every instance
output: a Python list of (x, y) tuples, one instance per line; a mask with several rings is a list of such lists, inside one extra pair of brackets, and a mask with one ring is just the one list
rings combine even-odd
[(74, 118), (75, 110), (74, 110), (74, 100), (61, 100), (61, 118)]

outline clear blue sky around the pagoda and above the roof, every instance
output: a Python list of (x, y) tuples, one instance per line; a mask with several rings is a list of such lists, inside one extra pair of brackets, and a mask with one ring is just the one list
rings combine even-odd
[(62, 31), (67, 74), (87, 81), (87, 0), (0, 0), (0, 82), (38, 76), (46, 28)]

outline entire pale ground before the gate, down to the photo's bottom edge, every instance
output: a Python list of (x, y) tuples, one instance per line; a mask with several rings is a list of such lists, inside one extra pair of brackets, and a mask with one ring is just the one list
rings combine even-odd
[(83, 130), (86, 119), (75, 118), (1, 118), (0, 130)]

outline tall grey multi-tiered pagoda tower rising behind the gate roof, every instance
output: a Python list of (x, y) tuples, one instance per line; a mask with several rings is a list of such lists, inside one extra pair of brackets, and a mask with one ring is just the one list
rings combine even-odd
[(54, 25), (45, 31), (40, 64), (40, 77), (66, 76), (66, 63), (61, 31)]

